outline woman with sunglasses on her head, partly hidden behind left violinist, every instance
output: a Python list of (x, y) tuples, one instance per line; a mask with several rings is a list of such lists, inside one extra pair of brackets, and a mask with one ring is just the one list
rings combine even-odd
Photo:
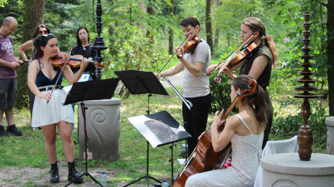
[[(30, 66), (30, 62), (31, 60), (33, 59), (32, 57), (32, 54), (33, 54), (33, 50), (34, 50), (34, 47), (33, 47), (33, 41), (34, 41), (34, 38), (42, 35), (42, 34), (48, 34), (50, 33), (50, 29), (41, 24), (39, 26), (37, 26), (35, 28), (35, 30), (33, 31), (33, 34), (32, 34), (32, 39), (26, 41), (24, 44), (22, 44), (20, 47), (17, 48), (18, 52), (20, 53), (23, 61), (29, 61), (29, 66)], [(24, 51), (26, 50), (29, 50), (30, 53), (31, 53), (31, 57), (30, 59), (27, 58), (26, 54), (24, 53)], [(59, 49), (58, 49), (58, 52)], [(28, 68), (29, 68), (28, 66)], [(33, 93), (29, 90), (29, 110), (30, 110), (30, 117), (32, 118), (32, 108), (33, 108), (33, 102), (34, 102), (34, 98), (35, 98), (35, 95), (33, 95)], [(36, 128), (32, 128), (33, 130), (36, 129)]]

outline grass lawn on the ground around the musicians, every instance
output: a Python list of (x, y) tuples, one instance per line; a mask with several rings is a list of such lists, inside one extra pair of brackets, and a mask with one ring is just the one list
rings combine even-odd
[[(176, 87), (182, 92), (182, 86)], [(181, 100), (176, 95), (176, 93), (171, 88), (166, 88), (169, 96), (155, 95), (150, 97), (150, 114), (157, 113), (160, 111), (169, 112), (180, 124), (182, 124), (182, 106)], [(116, 94), (115, 94), (116, 95)], [(279, 112), (279, 103), (273, 100), (273, 104), (276, 105), (275, 112)], [(301, 105), (299, 103), (299, 105)], [(107, 176), (108, 185), (118, 186), (117, 184), (122, 183), (125, 185), (133, 180), (136, 180), (144, 175), (146, 175), (146, 139), (140, 134), (140, 132), (128, 121), (128, 117), (144, 115), (147, 110), (147, 94), (142, 95), (130, 95), (128, 99), (122, 99), (121, 105), (121, 143), (120, 143), (120, 158), (113, 162), (106, 162), (100, 160), (89, 160), (88, 172), (90, 169), (99, 169), (100, 171), (106, 171), (108, 173), (114, 173), (113, 177)], [(276, 111), (277, 110), (277, 111)], [(296, 110), (292, 110), (296, 111)], [(77, 116), (78, 114), (76, 114)], [(284, 114), (281, 114), (284, 115)], [(14, 110), (14, 121), (19, 130), (23, 132), (23, 136), (14, 137), (10, 136), (0, 138), (0, 168), (35, 168), (35, 169), (45, 169), (49, 171), (50, 164), (48, 162), (45, 148), (44, 148), (44, 137), (41, 130), (30, 129), (30, 112), (26, 109)], [(209, 114), (208, 128), (213, 121), (213, 114)], [(6, 124), (6, 120), (3, 121)], [(273, 124), (274, 125), (274, 124)], [(76, 123), (77, 128), (77, 123)], [(271, 134), (269, 140), (282, 140), (293, 137), (295, 133), (291, 133), (285, 137), (277, 136)], [(73, 139), (76, 139), (77, 132), (72, 133)], [(62, 141), (60, 136), (57, 136), (57, 151), (58, 159), (65, 161), (65, 156), (63, 155)], [(177, 142), (176, 147), (173, 148), (173, 158), (174, 158), (174, 177), (181, 169), (181, 165), (178, 164), (177, 159), (181, 158), (179, 156), (181, 151), (181, 144), (184, 141)], [(324, 145), (313, 146), (313, 152), (326, 153), (327, 150)], [(78, 158), (79, 147), (76, 146), (76, 158)], [(93, 155), (94, 157), (94, 155)], [(150, 146), (150, 165), (149, 174), (159, 180), (168, 179), (171, 183), (171, 149), (170, 145), (152, 148)], [(85, 170), (84, 162), (77, 163), (80, 171)], [(67, 166), (63, 164), (62, 167)], [(48, 180), (49, 175), (44, 172), (41, 178), (45, 181)], [(1, 173), (1, 172), (0, 172)], [(67, 175), (67, 173), (62, 174)], [(1, 176), (1, 175), (0, 175)], [(20, 180), (16, 179), (0, 179), (6, 180)], [(89, 177), (85, 177), (85, 182), (91, 181)], [(150, 180), (151, 184), (155, 181)], [(145, 184), (146, 180), (140, 180), (137, 182), (138, 185)], [(34, 181), (26, 182), (23, 186), (39, 186), (34, 183)], [(48, 185), (47, 185), (48, 186)], [(79, 185), (80, 186), (80, 185)]]

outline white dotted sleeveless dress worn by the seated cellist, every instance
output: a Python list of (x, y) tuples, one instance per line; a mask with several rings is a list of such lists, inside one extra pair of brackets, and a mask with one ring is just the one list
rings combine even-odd
[(253, 135), (246, 122), (237, 116), (251, 133), (249, 136), (239, 136), (234, 133), (232, 143), (231, 167), (198, 173), (188, 178), (185, 183), (189, 186), (253, 186), (259, 167), (262, 141), (264, 134)]

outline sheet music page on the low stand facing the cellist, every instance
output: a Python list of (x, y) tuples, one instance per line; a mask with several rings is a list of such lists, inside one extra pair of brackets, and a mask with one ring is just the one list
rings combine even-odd
[(160, 118), (145, 121), (144, 123), (163, 143), (180, 139)]

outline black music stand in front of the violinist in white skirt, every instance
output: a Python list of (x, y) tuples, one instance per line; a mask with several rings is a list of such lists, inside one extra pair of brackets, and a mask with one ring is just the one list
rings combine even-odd
[(89, 176), (92, 180), (98, 183), (100, 186), (103, 185), (97, 181), (93, 176), (88, 173), (87, 169), (87, 131), (86, 131), (86, 116), (85, 110), (85, 100), (101, 100), (101, 99), (110, 99), (113, 97), (117, 84), (119, 82), (119, 78), (110, 78), (110, 79), (103, 79), (103, 80), (88, 80), (84, 82), (75, 82), (68, 92), (67, 97), (63, 105), (68, 105), (75, 102), (81, 102), (81, 109), (82, 109), (82, 116), (84, 120), (84, 132), (85, 132), (85, 145), (86, 145), (86, 152), (85, 152), (85, 160), (86, 160), (86, 172), (81, 174), (79, 177), (73, 179), (71, 182), (66, 184), (68, 186), (72, 182), (76, 181), (78, 178), (82, 176)]

